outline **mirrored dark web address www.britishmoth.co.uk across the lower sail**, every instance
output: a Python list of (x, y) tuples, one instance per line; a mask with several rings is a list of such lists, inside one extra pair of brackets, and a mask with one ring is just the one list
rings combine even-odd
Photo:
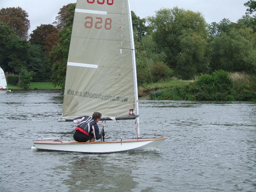
[(122, 96), (116, 96), (116, 95), (110, 95), (110, 94), (98, 94), (98, 93), (90, 93), (90, 92), (79, 92), (79, 91), (73, 91), (71, 89), (67, 90), (67, 95), (73, 95), (77, 97), (88, 97), (92, 99), (101, 99), (101, 100), (112, 100), (112, 101), (128, 101), (128, 97), (122, 97)]

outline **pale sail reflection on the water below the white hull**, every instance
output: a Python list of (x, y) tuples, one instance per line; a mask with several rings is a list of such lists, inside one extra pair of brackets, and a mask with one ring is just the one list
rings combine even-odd
[(128, 167), (118, 165), (120, 160), (110, 159), (108, 155), (75, 156), (68, 165), (70, 174), (64, 184), (69, 186), (68, 191), (113, 191), (120, 188), (131, 191), (138, 183), (133, 181)]

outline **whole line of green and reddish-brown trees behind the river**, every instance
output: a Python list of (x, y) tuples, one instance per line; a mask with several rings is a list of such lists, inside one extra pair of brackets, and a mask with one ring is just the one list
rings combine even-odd
[[(52, 24), (28, 36), (28, 13), (20, 7), (0, 10), (0, 65), (34, 82), (65, 86), (66, 65), (76, 4), (63, 6)], [(193, 79), (216, 70), (256, 72), (256, 1), (244, 3), (236, 23), (207, 24), (200, 12), (163, 8), (147, 18), (132, 12), (138, 84), (171, 77)], [(29, 71), (29, 72), (28, 72)], [(150, 73), (149, 73), (150, 71)]]

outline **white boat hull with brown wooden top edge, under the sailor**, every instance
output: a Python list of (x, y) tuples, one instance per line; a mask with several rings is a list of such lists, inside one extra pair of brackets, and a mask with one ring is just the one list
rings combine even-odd
[(39, 140), (34, 142), (36, 149), (82, 153), (120, 153), (156, 149), (165, 138), (125, 139), (122, 141), (76, 142), (60, 140)]

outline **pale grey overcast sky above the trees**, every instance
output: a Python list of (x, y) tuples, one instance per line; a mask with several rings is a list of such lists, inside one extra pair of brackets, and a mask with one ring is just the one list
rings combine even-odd
[[(116, 0), (117, 1), (117, 0)], [(217, 22), (226, 18), (236, 22), (246, 12), (244, 3), (248, 0), (130, 0), (131, 9), (140, 18), (155, 15), (161, 8), (189, 9), (201, 12), (207, 23)], [(7, 7), (21, 7), (30, 20), (30, 34), (41, 24), (52, 24), (60, 8), (76, 0), (0, 0), (0, 9)]]

